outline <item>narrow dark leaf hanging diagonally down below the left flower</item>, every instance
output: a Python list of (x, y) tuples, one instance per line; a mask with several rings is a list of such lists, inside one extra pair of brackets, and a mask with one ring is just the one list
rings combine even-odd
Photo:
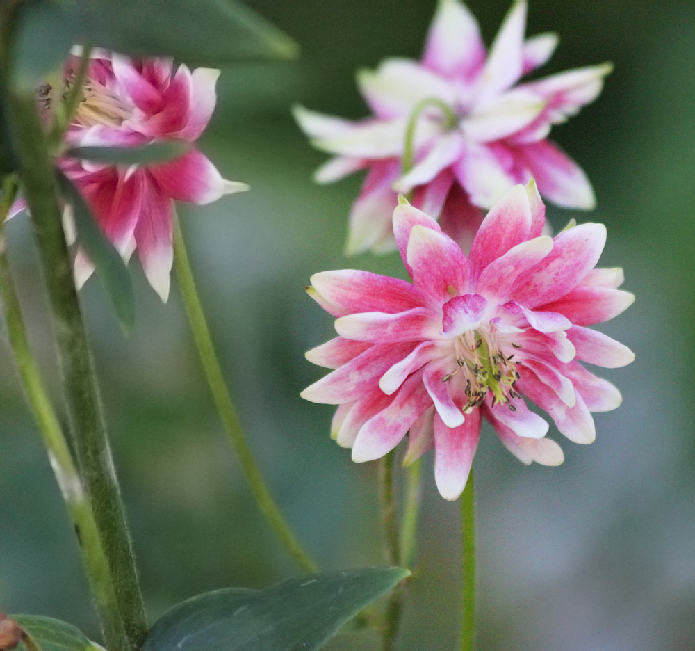
[(94, 264), (101, 284), (111, 298), (122, 328), (125, 332), (129, 332), (135, 323), (135, 298), (128, 269), (120, 254), (97, 224), (79, 190), (60, 170), (56, 170), (56, 176), (63, 198), (72, 207), (77, 241)]

